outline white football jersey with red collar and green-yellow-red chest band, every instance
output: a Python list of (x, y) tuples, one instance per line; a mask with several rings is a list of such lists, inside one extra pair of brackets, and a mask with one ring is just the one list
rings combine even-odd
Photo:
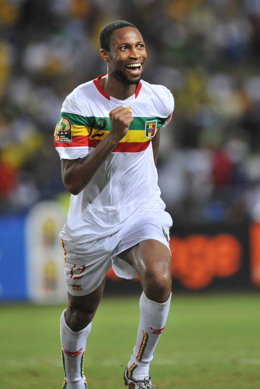
[(157, 185), (151, 140), (171, 119), (171, 92), (140, 81), (126, 100), (107, 95), (98, 79), (75, 88), (66, 98), (54, 133), (61, 159), (90, 154), (110, 130), (109, 112), (117, 106), (130, 109), (134, 118), (127, 135), (78, 195), (71, 195), (67, 223), (60, 237), (81, 244), (110, 236), (124, 222), (153, 210), (164, 210)]

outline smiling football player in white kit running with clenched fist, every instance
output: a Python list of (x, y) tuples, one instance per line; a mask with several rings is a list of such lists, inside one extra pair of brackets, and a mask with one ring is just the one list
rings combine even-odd
[(137, 340), (123, 378), (130, 389), (152, 389), (149, 367), (172, 282), (172, 218), (160, 198), (156, 161), (160, 128), (171, 119), (174, 102), (167, 88), (141, 80), (147, 54), (133, 24), (109, 23), (99, 41), (107, 73), (69, 94), (54, 133), (71, 193), (60, 232), (69, 298), (60, 322), (63, 389), (87, 388), (86, 340), (110, 267), (119, 277), (140, 278)]

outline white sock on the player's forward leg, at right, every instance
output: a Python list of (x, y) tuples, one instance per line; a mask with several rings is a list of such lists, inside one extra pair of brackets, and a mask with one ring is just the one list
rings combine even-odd
[(130, 379), (140, 380), (149, 376), (150, 362), (165, 327), (171, 297), (172, 294), (168, 301), (159, 303), (147, 299), (144, 292), (142, 292), (139, 301), (140, 321), (137, 342), (134, 353), (127, 365)]

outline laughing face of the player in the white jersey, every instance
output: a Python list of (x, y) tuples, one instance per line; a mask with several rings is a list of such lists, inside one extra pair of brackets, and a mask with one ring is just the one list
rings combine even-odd
[(115, 30), (110, 41), (108, 70), (124, 84), (138, 84), (146, 61), (142, 35), (133, 27)]

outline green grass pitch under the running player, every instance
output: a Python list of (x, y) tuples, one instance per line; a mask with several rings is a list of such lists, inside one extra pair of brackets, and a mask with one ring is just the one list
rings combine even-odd
[[(89, 389), (125, 388), (139, 298), (104, 298), (87, 340)], [(61, 389), (65, 305), (0, 306), (0, 388)], [(259, 389), (260, 294), (173, 296), (151, 364), (159, 389)]]

